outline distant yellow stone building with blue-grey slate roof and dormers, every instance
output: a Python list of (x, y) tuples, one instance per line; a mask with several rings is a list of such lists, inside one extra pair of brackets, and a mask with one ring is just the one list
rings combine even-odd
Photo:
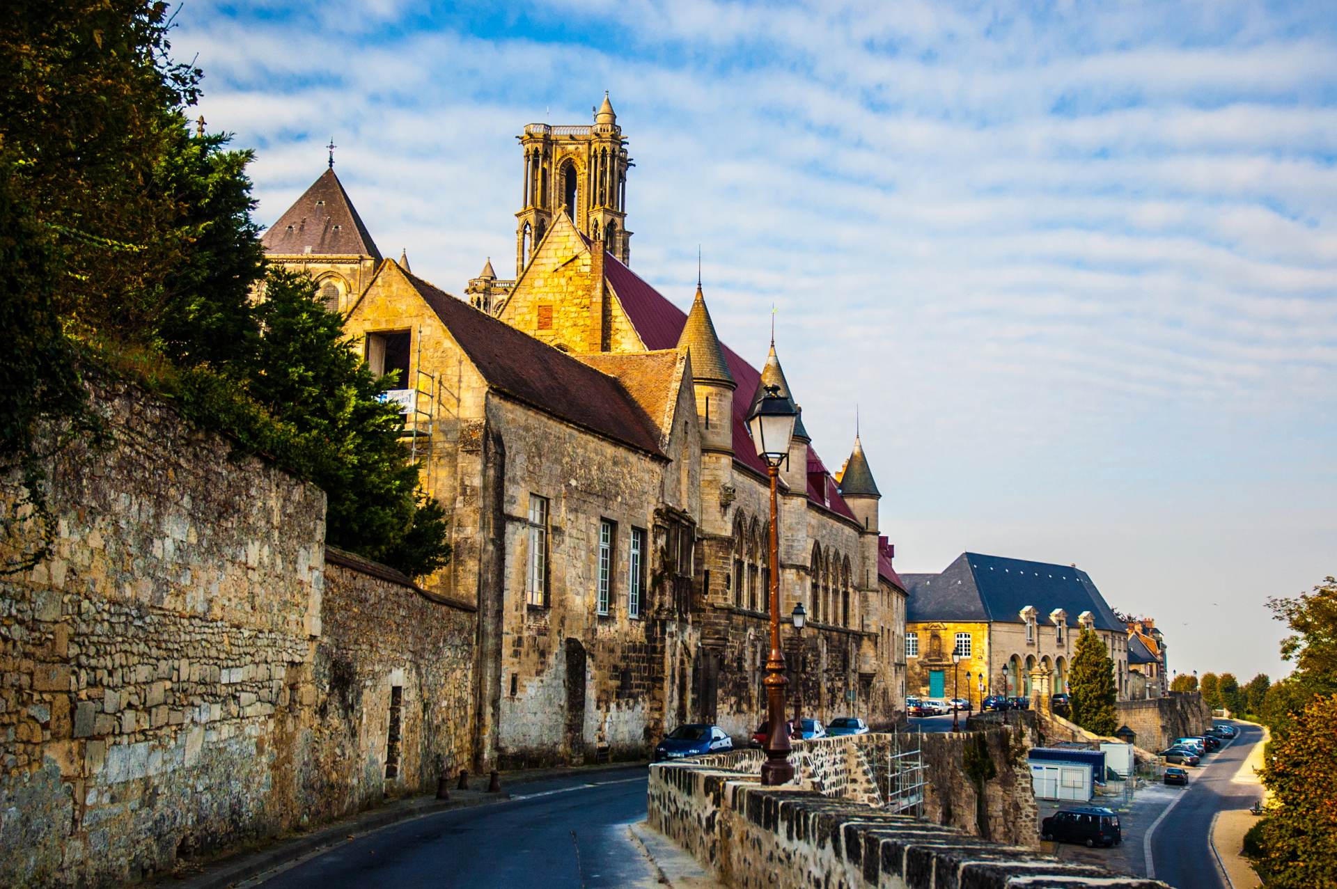
[(1078, 636), (1090, 627), (1110, 651), (1119, 699), (1132, 695), (1126, 627), (1084, 571), (965, 552), (941, 574), (904, 578), (909, 694), (957, 696), (953, 680), (975, 707), (992, 694), (1066, 694)]

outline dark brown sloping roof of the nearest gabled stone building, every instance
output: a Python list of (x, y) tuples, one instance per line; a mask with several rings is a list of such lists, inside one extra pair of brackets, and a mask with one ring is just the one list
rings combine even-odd
[[(382, 270), (390, 267), (397, 266), (390, 263)], [(417, 275), (402, 274), (489, 386), (537, 410), (663, 456), (656, 424), (618, 380), (479, 311)]]

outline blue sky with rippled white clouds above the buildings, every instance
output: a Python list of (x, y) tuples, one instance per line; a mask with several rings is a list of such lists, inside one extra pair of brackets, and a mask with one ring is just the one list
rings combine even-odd
[[(1326, 8), (1325, 8), (1326, 7)], [(385, 255), (512, 277), (525, 123), (610, 92), (631, 266), (856, 410), (905, 572), (1086, 569), (1171, 670), (1288, 671), (1337, 574), (1337, 16), (1234, 3), (189, 0), (271, 223), (336, 170)]]

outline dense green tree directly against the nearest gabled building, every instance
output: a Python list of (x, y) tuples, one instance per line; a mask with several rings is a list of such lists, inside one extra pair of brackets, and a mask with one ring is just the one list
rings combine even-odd
[(329, 496), (329, 541), (409, 576), (445, 565), (444, 512), (418, 492), (418, 467), (400, 440), (402, 414), (382, 400), (402, 382), (372, 376), (310, 275), (270, 269), (255, 313), (265, 336), (246, 385), (312, 455), (305, 471)]

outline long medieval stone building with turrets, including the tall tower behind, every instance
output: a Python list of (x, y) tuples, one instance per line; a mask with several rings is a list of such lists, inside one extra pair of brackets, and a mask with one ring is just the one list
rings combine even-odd
[(592, 127), (532, 124), (520, 143), (513, 282), (489, 261), (461, 301), (381, 261), (342, 303), (373, 372), (400, 372), (392, 397), (451, 516), (455, 557), (425, 586), (479, 608), (481, 761), (640, 755), (689, 721), (750, 735), (773, 571), (786, 623), (808, 612), (802, 638), (785, 631), (794, 703), (893, 722), (905, 591), (862, 442), (837, 476), (798, 424), (771, 565), (745, 418), (763, 381), (793, 398), (774, 348), (758, 372), (719, 341), (701, 287), (685, 313), (631, 271), (607, 99)]

